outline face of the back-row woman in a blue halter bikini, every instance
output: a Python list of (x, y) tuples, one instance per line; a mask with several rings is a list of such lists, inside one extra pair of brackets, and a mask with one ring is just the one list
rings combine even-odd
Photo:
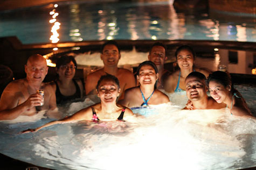
[(191, 51), (183, 49), (177, 55), (177, 63), (180, 69), (192, 69), (193, 67), (193, 54)]

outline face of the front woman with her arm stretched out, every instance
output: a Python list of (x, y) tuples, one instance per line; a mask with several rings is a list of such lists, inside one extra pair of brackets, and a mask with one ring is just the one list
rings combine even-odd
[(120, 88), (113, 80), (104, 79), (96, 90), (98, 97), (102, 102), (116, 102), (120, 95)]

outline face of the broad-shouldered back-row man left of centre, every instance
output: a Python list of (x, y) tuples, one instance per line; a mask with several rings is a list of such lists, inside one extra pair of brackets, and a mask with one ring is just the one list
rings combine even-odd
[(121, 55), (115, 45), (106, 45), (100, 55), (105, 66), (117, 66)]

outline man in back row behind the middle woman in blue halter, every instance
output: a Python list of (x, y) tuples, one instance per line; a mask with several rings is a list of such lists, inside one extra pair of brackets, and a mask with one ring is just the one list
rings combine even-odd
[(153, 44), (149, 51), (148, 60), (153, 62), (157, 66), (159, 73), (159, 79), (157, 88), (163, 88), (164, 80), (169, 75), (169, 71), (164, 69), (164, 61), (167, 60), (166, 47), (161, 42), (156, 42)]

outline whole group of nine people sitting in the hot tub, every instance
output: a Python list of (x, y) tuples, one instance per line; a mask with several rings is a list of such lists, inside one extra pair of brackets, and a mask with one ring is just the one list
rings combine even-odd
[[(100, 55), (103, 68), (89, 73), (85, 82), (86, 95), (96, 94), (100, 102), (64, 119), (60, 119), (57, 105), (84, 96), (81, 80), (73, 79), (77, 63), (72, 56), (61, 56), (56, 63), (57, 80), (43, 83), (48, 71), (46, 60), (39, 54), (32, 55), (25, 65), (26, 78), (11, 82), (2, 93), (0, 120), (31, 116), (39, 110), (47, 110), (47, 116), (60, 119), (23, 132), (71, 121), (125, 120), (133, 115), (132, 107), (170, 103), (169, 97), (158, 89), (168, 93), (185, 91), (189, 100), (184, 109), (227, 107), (231, 115), (252, 116), (245, 100), (233, 87), (229, 73), (210, 73), (195, 68), (195, 53), (186, 45), (176, 50), (179, 69), (170, 73), (163, 67), (167, 60), (165, 51), (162, 43), (154, 43), (149, 51), (149, 61), (142, 62), (134, 76), (129, 70), (117, 67), (121, 57), (119, 46), (115, 41), (107, 41)], [(44, 97), (37, 90), (44, 90)], [(211, 97), (206, 94), (208, 90)]]

